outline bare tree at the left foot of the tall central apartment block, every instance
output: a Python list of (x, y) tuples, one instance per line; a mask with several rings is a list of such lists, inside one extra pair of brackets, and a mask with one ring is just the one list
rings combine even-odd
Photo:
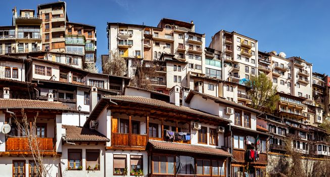
[(103, 64), (103, 73), (124, 76), (127, 73), (125, 60), (117, 52), (111, 51), (109, 60)]

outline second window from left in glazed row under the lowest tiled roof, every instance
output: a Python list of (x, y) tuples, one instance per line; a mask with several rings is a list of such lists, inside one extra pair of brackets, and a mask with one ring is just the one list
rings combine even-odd
[(177, 174), (195, 174), (195, 159), (190, 156), (176, 156)]

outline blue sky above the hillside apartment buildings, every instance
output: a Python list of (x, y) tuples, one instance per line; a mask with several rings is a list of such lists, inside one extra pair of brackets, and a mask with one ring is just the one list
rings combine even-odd
[[(11, 25), (14, 6), (36, 9), (53, 1), (6, 1), (0, 7), (0, 25)], [(163, 17), (190, 22), (195, 30), (211, 36), (224, 29), (259, 41), (259, 51), (285, 52), (313, 63), (313, 71), (330, 74), (330, 1), (128, 1), (71, 0), (67, 14), (72, 22), (97, 27), (98, 55), (107, 54), (107, 22), (157, 26)]]

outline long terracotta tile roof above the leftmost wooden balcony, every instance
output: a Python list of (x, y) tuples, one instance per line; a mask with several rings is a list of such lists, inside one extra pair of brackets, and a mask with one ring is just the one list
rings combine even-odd
[(0, 99), (0, 109), (55, 109), (70, 110), (70, 108), (61, 102), (50, 102), (40, 100), (23, 99)]

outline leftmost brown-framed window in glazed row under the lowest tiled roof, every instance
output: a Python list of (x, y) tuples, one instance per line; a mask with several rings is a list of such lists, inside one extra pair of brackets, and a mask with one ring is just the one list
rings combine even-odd
[[(174, 157), (154, 155), (152, 172), (154, 174), (174, 174)], [(179, 173), (179, 170), (177, 171), (177, 173)]]

